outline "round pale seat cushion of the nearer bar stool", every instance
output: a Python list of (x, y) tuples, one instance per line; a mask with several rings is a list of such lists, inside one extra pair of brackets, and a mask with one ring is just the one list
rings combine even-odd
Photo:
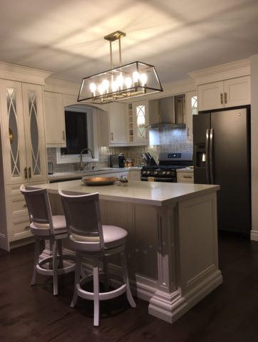
[[(116, 226), (103, 225), (103, 239), (105, 249), (119, 247), (125, 244), (128, 232), (125, 229)], [(72, 234), (71, 239), (78, 242), (99, 242), (99, 237), (83, 237), (81, 235)]]

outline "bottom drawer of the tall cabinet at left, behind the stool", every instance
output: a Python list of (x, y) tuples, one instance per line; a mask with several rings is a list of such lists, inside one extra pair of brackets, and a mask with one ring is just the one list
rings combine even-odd
[(18, 219), (9, 219), (7, 224), (10, 242), (32, 237), (33, 235), (31, 234), (31, 229), (29, 227), (29, 219), (26, 219), (26, 217), (24, 217), (24, 219), (22, 217)]

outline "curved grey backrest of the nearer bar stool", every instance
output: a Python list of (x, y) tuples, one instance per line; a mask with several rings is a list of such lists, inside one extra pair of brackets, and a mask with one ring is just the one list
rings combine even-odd
[(105, 249), (103, 239), (103, 228), (100, 218), (100, 205), (98, 192), (90, 195), (65, 195), (59, 190), (63, 204), (63, 211), (66, 216), (66, 224), (70, 234), (81, 237), (99, 238), (98, 242), (91, 242), (86, 239), (81, 242), (85, 250), (103, 251)]

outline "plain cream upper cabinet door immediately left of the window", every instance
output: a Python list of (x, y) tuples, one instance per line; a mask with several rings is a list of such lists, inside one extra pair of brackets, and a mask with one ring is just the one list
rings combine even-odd
[(63, 95), (44, 91), (47, 147), (66, 147)]

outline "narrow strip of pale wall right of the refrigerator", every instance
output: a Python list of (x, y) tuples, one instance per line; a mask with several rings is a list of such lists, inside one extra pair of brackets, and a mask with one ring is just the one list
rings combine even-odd
[(251, 239), (258, 241), (258, 55), (251, 56), (251, 170), (252, 170), (252, 231)]

